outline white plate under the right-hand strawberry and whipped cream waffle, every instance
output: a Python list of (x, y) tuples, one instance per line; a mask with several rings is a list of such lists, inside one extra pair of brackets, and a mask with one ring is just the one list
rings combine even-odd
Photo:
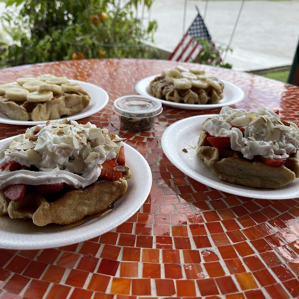
[[(212, 169), (196, 156), (201, 125), (211, 116), (214, 115), (185, 118), (173, 123), (164, 131), (161, 140), (162, 149), (173, 165), (196, 181), (223, 192), (260, 199), (299, 197), (299, 178), (274, 190), (249, 188), (220, 180)], [(187, 149), (188, 152), (182, 149)]]

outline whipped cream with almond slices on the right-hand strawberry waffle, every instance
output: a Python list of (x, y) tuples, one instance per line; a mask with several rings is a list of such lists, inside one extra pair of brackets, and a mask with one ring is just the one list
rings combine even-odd
[[(244, 128), (244, 136), (239, 128)], [(244, 109), (223, 107), (219, 115), (208, 120), (203, 129), (211, 136), (229, 137), (231, 149), (252, 159), (255, 155), (265, 158), (287, 158), (299, 149), (299, 129), (292, 122), (285, 122), (270, 109), (246, 112)]]

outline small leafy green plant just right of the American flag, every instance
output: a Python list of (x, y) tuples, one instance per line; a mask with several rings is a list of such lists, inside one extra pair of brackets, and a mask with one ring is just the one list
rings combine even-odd
[[(197, 41), (201, 45), (201, 49), (193, 62), (232, 68), (232, 64), (223, 63), (222, 55), (227, 51), (226, 48), (221, 45), (216, 45), (214, 42), (209, 42), (203, 38), (199, 38)], [(232, 51), (232, 49), (228, 50)]]

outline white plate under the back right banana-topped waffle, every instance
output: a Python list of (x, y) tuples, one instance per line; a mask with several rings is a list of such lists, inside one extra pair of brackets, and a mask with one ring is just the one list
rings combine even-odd
[[(135, 89), (136, 91), (145, 97), (149, 97), (152, 99), (157, 99), (155, 98), (149, 88), (149, 82), (152, 81), (156, 76), (150, 76), (145, 79), (142, 79), (139, 81)], [(221, 82), (224, 83), (224, 89), (223, 89), (223, 99), (220, 100), (217, 104), (210, 104), (210, 105), (198, 105), (198, 104), (184, 104), (184, 103), (174, 103), (174, 102), (169, 102), (166, 100), (160, 100), (163, 105), (174, 107), (174, 108), (181, 108), (181, 109), (188, 109), (188, 110), (207, 110), (207, 109), (214, 109), (218, 107), (223, 107), (223, 106), (229, 106), (236, 104), (244, 99), (244, 92), (241, 88), (238, 86), (226, 82), (224, 80), (221, 80)]]

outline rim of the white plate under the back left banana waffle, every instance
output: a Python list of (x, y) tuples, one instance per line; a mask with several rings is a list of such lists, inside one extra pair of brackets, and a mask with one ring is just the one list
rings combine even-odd
[[(98, 105), (97, 105), (97, 102), (99, 102), (99, 101), (97, 99), (94, 99), (95, 107), (92, 107), (92, 108), (90, 108), (89, 110), (87, 110), (83, 113), (82, 113), (82, 110), (81, 110), (81, 111), (77, 112), (76, 114), (70, 115), (70, 116), (67, 117), (68, 120), (76, 121), (76, 120), (80, 120), (82, 118), (91, 116), (92, 114), (97, 113), (97, 112), (101, 111), (102, 109), (104, 109), (106, 107), (106, 105), (108, 104), (109, 95), (108, 95), (107, 91), (104, 88), (102, 88), (101, 86), (98, 86), (98, 85), (95, 85), (93, 83), (89, 83), (89, 82), (86, 82), (86, 81), (75, 80), (75, 79), (68, 79), (68, 81), (70, 81), (71, 83), (78, 83), (78, 84), (83, 83), (84, 85), (90, 86), (90, 88), (95, 88), (96, 87), (96, 88), (100, 89), (105, 95), (105, 99), (104, 99), (103, 103), (98, 103)], [(8, 84), (14, 84), (14, 83), (16, 83), (16, 82), (3, 83), (3, 84), (8, 85)], [(88, 106), (86, 108), (88, 108)], [(84, 109), (86, 109), (86, 108), (84, 108)], [(61, 120), (61, 118), (51, 120), (51, 122), (55, 122), (57, 120)], [(0, 116), (0, 123), (8, 124), (8, 125), (35, 126), (35, 125), (45, 124), (46, 122), (47, 121), (17, 121), (17, 120), (12, 120), (10, 118), (6, 119), (6, 118), (3, 118), (3, 117)]]

